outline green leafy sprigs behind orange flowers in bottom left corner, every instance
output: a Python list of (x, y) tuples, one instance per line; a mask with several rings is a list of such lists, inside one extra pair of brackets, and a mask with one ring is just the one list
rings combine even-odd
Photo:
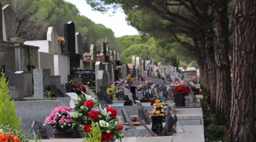
[(20, 142), (29, 142), (29, 140), (25, 139), (25, 136), (20, 130), (12, 129), (10, 125), (0, 125), (0, 129), (2, 129), (5, 134), (9, 132), (12, 133), (13, 136), (17, 136), (20, 139)]

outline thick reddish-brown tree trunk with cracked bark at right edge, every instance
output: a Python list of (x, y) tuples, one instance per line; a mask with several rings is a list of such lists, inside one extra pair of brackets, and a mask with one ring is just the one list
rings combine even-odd
[(235, 0), (230, 142), (256, 140), (255, 0)]

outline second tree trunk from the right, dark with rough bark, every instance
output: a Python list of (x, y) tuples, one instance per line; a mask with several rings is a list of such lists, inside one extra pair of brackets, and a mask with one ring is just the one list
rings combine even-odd
[(214, 53), (216, 62), (216, 121), (230, 127), (231, 76), (227, 0), (217, 0)]

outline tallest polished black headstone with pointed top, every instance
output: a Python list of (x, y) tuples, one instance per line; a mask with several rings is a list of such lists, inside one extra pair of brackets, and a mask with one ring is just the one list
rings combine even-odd
[(72, 21), (64, 23), (64, 38), (65, 48), (63, 53), (76, 53), (75, 52), (75, 24)]

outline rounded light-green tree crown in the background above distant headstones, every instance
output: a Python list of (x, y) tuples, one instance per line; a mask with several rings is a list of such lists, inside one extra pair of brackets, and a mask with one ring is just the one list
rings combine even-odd
[(150, 59), (149, 46), (145, 44), (134, 44), (125, 49), (120, 55), (120, 60), (124, 63), (131, 63), (132, 56), (139, 56), (141, 60)]

